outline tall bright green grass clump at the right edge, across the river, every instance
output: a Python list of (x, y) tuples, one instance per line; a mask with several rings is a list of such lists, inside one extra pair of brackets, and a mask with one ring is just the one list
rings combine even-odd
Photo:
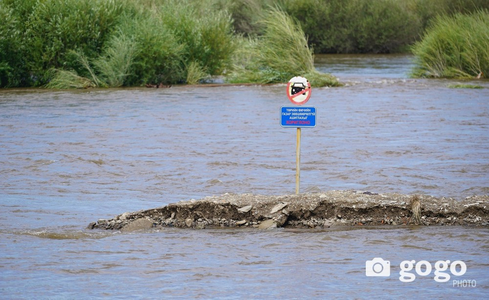
[(488, 11), (437, 17), (412, 51), (416, 56), (416, 77), (487, 77)]

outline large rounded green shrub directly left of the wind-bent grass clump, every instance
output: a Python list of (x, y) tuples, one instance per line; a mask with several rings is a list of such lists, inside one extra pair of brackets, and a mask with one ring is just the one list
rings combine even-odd
[(236, 49), (229, 15), (206, 3), (149, 0), (119, 27), (138, 49), (129, 85), (197, 83), (228, 69)]

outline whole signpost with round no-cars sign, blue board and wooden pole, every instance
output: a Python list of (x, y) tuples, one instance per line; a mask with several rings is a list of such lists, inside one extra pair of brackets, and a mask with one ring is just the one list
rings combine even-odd
[(299, 106), (280, 108), (280, 125), (297, 128), (297, 148), (295, 155), (295, 193), (299, 194), (301, 177), (301, 128), (316, 126), (316, 107), (302, 107), (311, 97), (311, 84), (304, 77), (294, 77), (287, 84), (287, 97)]

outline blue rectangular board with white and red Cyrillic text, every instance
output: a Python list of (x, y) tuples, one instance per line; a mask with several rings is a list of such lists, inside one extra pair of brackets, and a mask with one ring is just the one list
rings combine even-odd
[(280, 125), (282, 127), (315, 127), (316, 107), (314, 106), (280, 107)]

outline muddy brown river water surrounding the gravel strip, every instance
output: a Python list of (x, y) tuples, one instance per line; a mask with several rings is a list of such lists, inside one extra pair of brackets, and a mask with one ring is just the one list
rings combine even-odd
[[(301, 192), (489, 192), (489, 83), (451, 89), (458, 81), (408, 78), (411, 65), (405, 55), (316, 57), (347, 86), (313, 87)], [(285, 85), (1, 90), (1, 298), (488, 294), (488, 229), (84, 229), (208, 195), (294, 193), (295, 129), (279, 124), (289, 104)], [(374, 257), (390, 260), (390, 277), (365, 276)], [(467, 273), (403, 283), (400, 262), (411, 259), (433, 271), (459, 259)]]

